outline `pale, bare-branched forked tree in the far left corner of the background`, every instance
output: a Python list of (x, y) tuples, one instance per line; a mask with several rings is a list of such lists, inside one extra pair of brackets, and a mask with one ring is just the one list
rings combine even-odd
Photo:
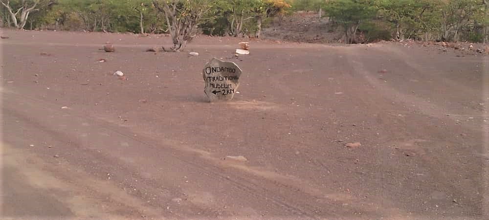
[[(23, 29), (31, 12), (39, 11), (40, 8), (55, 4), (54, 0), (21, 0), (10, 4), (10, 0), (0, 0), (0, 3), (7, 8), (14, 26)], [(16, 9), (17, 8), (17, 9)], [(14, 12), (15, 11), (15, 12)], [(21, 14), (19, 14), (21, 13)]]

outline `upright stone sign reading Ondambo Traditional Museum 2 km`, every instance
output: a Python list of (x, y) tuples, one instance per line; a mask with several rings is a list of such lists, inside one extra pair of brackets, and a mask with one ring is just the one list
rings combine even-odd
[(202, 76), (205, 81), (204, 93), (211, 102), (229, 101), (240, 85), (241, 68), (233, 62), (214, 58), (204, 66)]

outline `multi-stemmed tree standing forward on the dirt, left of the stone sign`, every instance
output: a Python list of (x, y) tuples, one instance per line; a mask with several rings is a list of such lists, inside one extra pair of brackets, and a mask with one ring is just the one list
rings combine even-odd
[(178, 52), (192, 41), (200, 19), (210, 8), (209, 3), (208, 0), (153, 0), (158, 11), (163, 13), (172, 36), (170, 51)]

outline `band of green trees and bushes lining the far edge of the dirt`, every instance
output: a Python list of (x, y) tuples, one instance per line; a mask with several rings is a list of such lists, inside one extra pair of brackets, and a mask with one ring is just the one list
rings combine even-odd
[[(33, 1), (10, 0), (10, 6), (19, 8), (22, 2)], [(25, 28), (169, 32), (168, 22), (162, 13), (158, 13), (153, 0), (41, 1), (43, 6), (30, 13)], [(46, 3), (51, 1), (56, 4)], [(208, 13), (202, 15), (198, 25), (204, 34), (209, 35), (243, 37), (255, 34), (259, 37), (262, 24), (266, 25), (273, 17), (282, 19), (293, 11), (318, 11), (321, 8), (324, 16), (330, 17), (330, 25), (341, 27), (346, 43), (386, 39), (386, 33), (397, 40), (489, 40), (489, 0), (175, 1), (179, 2), (179, 19), (186, 19), (192, 7), (205, 6)], [(3, 5), (0, 14), (4, 25), (14, 26)], [(20, 18), (19, 15), (17, 17)]]

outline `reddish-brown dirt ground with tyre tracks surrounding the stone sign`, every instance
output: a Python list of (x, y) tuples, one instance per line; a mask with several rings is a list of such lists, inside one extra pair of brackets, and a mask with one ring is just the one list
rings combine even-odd
[[(170, 39), (2, 35), (6, 219), (489, 218), (488, 56), (251, 41), (235, 58), (240, 39), (154, 54)], [(206, 101), (212, 57), (243, 69), (232, 102)]]

